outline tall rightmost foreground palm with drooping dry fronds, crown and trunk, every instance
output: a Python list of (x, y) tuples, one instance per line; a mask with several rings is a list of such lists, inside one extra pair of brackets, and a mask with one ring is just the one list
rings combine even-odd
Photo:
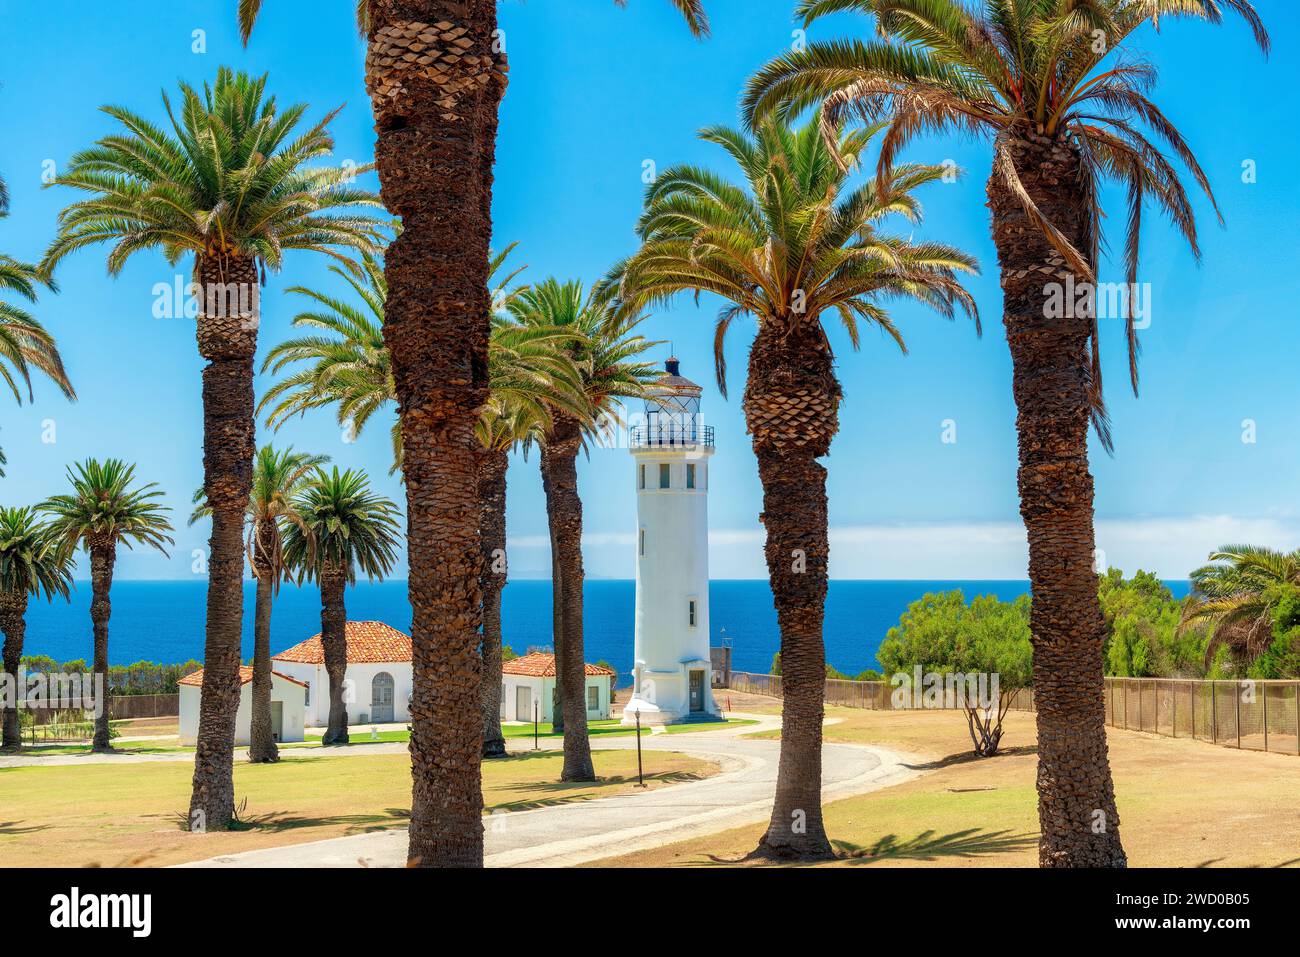
[[(1248, 0), (800, 0), (806, 25), (828, 13), (875, 16), (876, 39), (812, 43), (750, 81), (758, 120), (823, 103), (829, 124), (853, 113), (890, 118), (879, 166), (923, 133), (992, 139), (988, 205), (1002, 270), (1019, 430), (1020, 515), (1034, 590), (1034, 689), (1039, 729), (1039, 861), (1123, 866), (1106, 757), (1101, 645), (1093, 570), (1088, 423), (1110, 434), (1101, 393), (1096, 307), (1056, 317), (1062, 289), (1095, 289), (1101, 186), (1127, 191), (1124, 269), (1135, 289), (1143, 209), (1169, 215), (1196, 256), (1196, 218), (1162, 140), (1213, 203), (1196, 157), (1147, 98), (1154, 68), (1127, 56), (1147, 23), (1178, 17), (1221, 23), (1240, 14), (1266, 51)], [(884, 181), (884, 176), (879, 177)], [(1216, 212), (1217, 208), (1216, 208)], [(1093, 302), (1096, 296), (1093, 298)], [(1117, 309), (1119, 311), (1119, 309)], [(1130, 378), (1138, 337), (1127, 309)]]

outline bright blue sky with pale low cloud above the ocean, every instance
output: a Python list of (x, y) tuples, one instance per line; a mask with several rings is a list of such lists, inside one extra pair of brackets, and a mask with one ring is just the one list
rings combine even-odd
[[(58, 166), (110, 129), (96, 108), (129, 105), (159, 117), (161, 90), (178, 79), (202, 82), (220, 65), (269, 72), (283, 103), (306, 100), (311, 116), (346, 104), (334, 122), (338, 161), (365, 161), (373, 150), (363, 87), (364, 49), (348, 8), (270, 0), (251, 47), (240, 47), (234, 0), (121, 0), (40, 5), (0, 0), (8, 44), (0, 64), (0, 173), (12, 216), (0, 224), (0, 248), (35, 259), (72, 196), (42, 190), (43, 164)], [(667, 0), (633, 0), (627, 9), (601, 0), (502, 3), (511, 87), (502, 114), (495, 194), (495, 242), (517, 241), (526, 276), (590, 282), (634, 247), (642, 163), (703, 163), (733, 170), (694, 133), (734, 122), (746, 77), (786, 48), (788, 0), (710, 0), (714, 36), (689, 38)], [(1213, 546), (1239, 538), (1294, 547), (1300, 438), (1296, 408), (1300, 351), (1296, 254), (1300, 191), (1295, 187), (1294, 90), (1300, 72), (1300, 16), (1291, 3), (1258, 4), (1274, 36), (1265, 61), (1236, 21), (1223, 29), (1170, 22), (1139, 47), (1161, 70), (1157, 99), (1193, 144), (1227, 218), (1219, 229), (1208, 204), (1201, 217), (1204, 263), (1197, 267), (1167, 225), (1144, 226), (1141, 281), (1153, 286), (1153, 319), (1144, 333), (1143, 395), (1126, 387), (1121, 332), (1102, 334), (1115, 455), (1093, 450), (1098, 545), (1112, 564), (1180, 577)], [(307, 30), (304, 31), (304, 25)], [(812, 36), (861, 31), (836, 18)], [(195, 53), (192, 31), (205, 31)], [(1000, 322), (996, 260), (988, 238), (984, 181), (987, 144), (926, 140), (910, 159), (953, 159), (966, 177), (922, 194), (919, 235), (962, 246), (984, 265), (972, 283), (985, 321), (983, 339), (966, 322), (949, 324), (900, 307), (897, 321), (911, 355), (902, 358), (874, 334), (854, 354), (832, 332), (844, 381), (842, 432), (831, 471), (832, 573), (836, 577), (1024, 576), (1024, 541), (1015, 498), (1015, 432), (1010, 360)], [(1242, 182), (1254, 160), (1258, 182)], [(1110, 221), (1118, 194), (1106, 196)], [(181, 270), (187, 276), (188, 265)], [(1114, 270), (1104, 278), (1118, 281)], [(185, 528), (190, 493), (202, 478), (200, 360), (192, 326), (152, 316), (155, 283), (174, 272), (143, 255), (117, 280), (103, 254), (73, 256), (61, 268), (61, 293), (38, 315), (58, 337), (81, 395), (66, 403), (47, 382), (36, 402), (0, 403), (0, 443), (9, 458), (0, 501), (35, 502), (64, 485), (66, 463), (118, 455), (168, 492), (181, 531), (173, 558), (124, 554), (124, 577), (187, 577), (191, 549), (207, 527)], [(330, 283), (325, 264), (287, 259), (264, 295), (261, 354), (289, 334), (295, 311), (289, 285)], [(760, 489), (741, 419), (742, 382), (724, 402), (710, 378), (716, 302), (684, 299), (647, 322), (653, 338), (672, 339), (682, 372), (706, 386), (706, 416), (718, 428), (711, 528), (715, 577), (763, 577), (757, 515)], [(741, 324), (729, 363), (745, 368), (751, 326)], [(660, 350), (664, 355), (667, 350)], [(662, 358), (662, 356), (659, 356)], [(259, 378), (257, 390), (268, 385)], [(957, 442), (944, 443), (944, 420)], [(1243, 443), (1243, 420), (1257, 441)], [(53, 420), (56, 439), (42, 441)], [(268, 436), (259, 436), (264, 441)], [(356, 443), (342, 442), (329, 415), (295, 421), (280, 443), (328, 452), (364, 467), (400, 499), (387, 476), (386, 423)], [(510, 475), (512, 573), (543, 576), (549, 567), (536, 459)], [(634, 494), (630, 456), (593, 451), (581, 464), (593, 576), (632, 576)]]

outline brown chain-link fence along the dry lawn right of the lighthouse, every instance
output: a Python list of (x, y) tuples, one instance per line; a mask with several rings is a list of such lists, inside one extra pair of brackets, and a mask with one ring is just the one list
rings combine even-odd
[[(781, 697), (780, 675), (733, 671), (731, 688), (751, 694)], [(826, 703), (876, 711), (907, 709), (894, 701), (889, 681), (827, 679)], [(1258, 752), (1300, 754), (1300, 680), (1201, 681), (1176, 677), (1105, 679), (1106, 724), (1145, 731), (1166, 737), (1200, 741)], [(1010, 705), (1013, 711), (1032, 711), (1034, 692), (1022, 688)]]

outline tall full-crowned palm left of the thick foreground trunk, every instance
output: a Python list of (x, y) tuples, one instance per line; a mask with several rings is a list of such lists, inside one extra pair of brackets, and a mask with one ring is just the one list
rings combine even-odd
[(308, 129), (306, 104), (281, 111), (266, 78), (217, 72), (202, 94), (181, 85), (170, 129), (121, 107), (104, 112), (122, 127), (73, 156), (55, 183), (90, 194), (60, 215), (46, 254), (52, 269), (83, 246), (110, 242), (108, 269), (121, 272), (142, 250), (169, 264), (194, 255), (203, 371), (203, 485), (212, 508), (203, 709), (199, 713), (190, 822), (224, 830), (234, 815), (234, 728), (239, 705), (243, 618), (243, 525), (254, 458), (252, 369), (257, 347), (259, 276), (280, 269), (289, 250), (348, 260), (370, 251), (376, 220), (355, 212), (378, 199), (348, 186), (347, 169), (308, 166), (329, 155), (334, 113)]

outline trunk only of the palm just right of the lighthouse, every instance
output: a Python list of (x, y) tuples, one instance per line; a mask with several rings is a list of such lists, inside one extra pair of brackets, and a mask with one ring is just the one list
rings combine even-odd
[(760, 856), (831, 856), (822, 823), (829, 540), (826, 469), (818, 459), (831, 450), (838, 403), (820, 328), (770, 322), (759, 329), (744, 408), (763, 484), (764, 554), (781, 629), (781, 753), (772, 818), (755, 849)]

